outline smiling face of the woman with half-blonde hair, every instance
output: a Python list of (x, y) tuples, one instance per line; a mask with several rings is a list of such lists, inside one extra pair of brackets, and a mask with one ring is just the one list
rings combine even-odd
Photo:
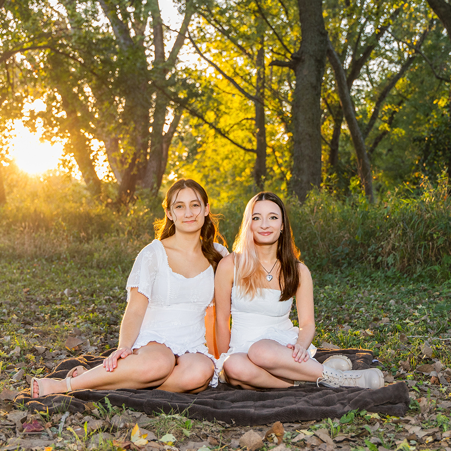
[(252, 210), (251, 231), (255, 244), (277, 243), (283, 230), (282, 211), (271, 200), (259, 200)]

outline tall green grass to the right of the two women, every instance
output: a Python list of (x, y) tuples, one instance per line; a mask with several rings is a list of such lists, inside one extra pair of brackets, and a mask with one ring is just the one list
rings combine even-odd
[(377, 204), (363, 196), (337, 200), (312, 191), (291, 208), (303, 258), (325, 269), (364, 264), (418, 274), (428, 269), (443, 277), (451, 268), (451, 198), (446, 177), (426, 178), (416, 189), (387, 192)]

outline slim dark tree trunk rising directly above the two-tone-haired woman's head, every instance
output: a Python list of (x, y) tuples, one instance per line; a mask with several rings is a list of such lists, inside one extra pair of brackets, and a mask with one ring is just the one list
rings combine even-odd
[(265, 48), (264, 38), (257, 52), (257, 92), (255, 105), (255, 128), (257, 138), (257, 157), (254, 166), (255, 184), (260, 191), (265, 189), (266, 177), (266, 120), (265, 120)]

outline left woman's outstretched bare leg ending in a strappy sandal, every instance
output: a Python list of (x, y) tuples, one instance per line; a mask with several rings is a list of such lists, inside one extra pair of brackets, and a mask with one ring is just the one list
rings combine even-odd
[[(117, 361), (114, 371), (106, 371), (103, 365), (86, 371), (71, 379), (73, 390), (86, 388), (147, 388), (161, 385), (171, 374), (175, 366), (175, 356), (164, 344), (150, 342), (146, 346), (135, 349), (125, 359)], [(41, 384), (44, 394), (65, 393), (66, 381), (44, 378)], [(38, 383), (35, 382), (33, 397), (39, 396)]]

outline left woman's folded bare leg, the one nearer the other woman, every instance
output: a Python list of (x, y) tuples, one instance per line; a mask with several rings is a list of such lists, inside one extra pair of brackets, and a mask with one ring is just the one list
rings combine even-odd
[(214, 374), (210, 358), (200, 353), (189, 353), (177, 357), (169, 377), (158, 387), (175, 393), (198, 393), (205, 390)]

